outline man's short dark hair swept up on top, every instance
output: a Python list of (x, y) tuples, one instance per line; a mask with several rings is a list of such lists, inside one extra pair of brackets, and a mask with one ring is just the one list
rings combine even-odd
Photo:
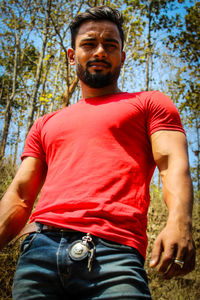
[(110, 22), (115, 23), (119, 30), (120, 38), (122, 41), (122, 49), (123, 49), (124, 47), (124, 31), (122, 28), (124, 23), (123, 16), (117, 9), (113, 9), (106, 5), (89, 8), (85, 12), (76, 15), (75, 18), (71, 21), (69, 28), (71, 31), (71, 46), (73, 49), (75, 49), (75, 40), (81, 24), (89, 20), (94, 20), (94, 21), (108, 20)]

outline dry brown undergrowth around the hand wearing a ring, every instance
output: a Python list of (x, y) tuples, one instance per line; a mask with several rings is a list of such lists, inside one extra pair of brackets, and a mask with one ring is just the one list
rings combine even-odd
[(161, 194), (153, 198), (148, 214), (148, 238), (147, 259), (145, 263), (149, 279), (149, 286), (153, 300), (197, 300), (200, 298), (200, 203), (195, 201), (193, 211), (193, 236), (196, 244), (196, 268), (184, 277), (176, 277), (171, 280), (163, 280), (156, 271), (149, 267), (153, 242), (162, 230), (167, 219), (167, 209), (162, 201)]

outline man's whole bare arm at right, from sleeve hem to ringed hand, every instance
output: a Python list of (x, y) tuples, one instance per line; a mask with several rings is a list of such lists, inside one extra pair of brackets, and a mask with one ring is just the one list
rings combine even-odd
[[(170, 279), (187, 274), (195, 266), (192, 239), (193, 189), (187, 142), (181, 132), (158, 131), (152, 134), (151, 143), (169, 214), (165, 228), (154, 243), (150, 266), (158, 266), (158, 272)], [(174, 263), (175, 258), (184, 261), (183, 268)]]

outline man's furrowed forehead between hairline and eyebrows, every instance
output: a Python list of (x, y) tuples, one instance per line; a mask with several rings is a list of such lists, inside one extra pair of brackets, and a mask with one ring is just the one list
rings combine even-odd
[(117, 25), (113, 22), (102, 21), (87, 21), (81, 24), (76, 40), (77, 42), (84, 38), (116, 38), (121, 41)]

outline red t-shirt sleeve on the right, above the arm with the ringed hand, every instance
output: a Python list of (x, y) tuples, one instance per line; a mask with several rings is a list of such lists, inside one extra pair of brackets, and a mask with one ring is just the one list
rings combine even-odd
[(156, 91), (150, 95), (146, 106), (149, 136), (159, 130), (174, 130), (185, 133), (179, 112), (168, 96)]

